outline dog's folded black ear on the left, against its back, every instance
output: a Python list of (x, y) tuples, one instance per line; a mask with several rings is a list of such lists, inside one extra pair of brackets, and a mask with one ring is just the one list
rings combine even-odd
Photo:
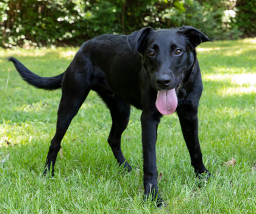
[(134, 54), (141, 52), (146, 44), (146, 38), (154, 30), (151, 27), (145, 27), (128, 35), (127, 43)]

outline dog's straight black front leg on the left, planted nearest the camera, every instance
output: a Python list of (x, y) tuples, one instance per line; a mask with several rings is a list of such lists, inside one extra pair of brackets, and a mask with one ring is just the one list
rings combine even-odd
[(155, 144), (157, 141), (157, 126), (160, 122), (160, 117), (153, 114), (141, 115), (142, 128), (142, 145), (143, 145), (143, 181), (145, 199), (149, 197), (157, 202), (160, 206), (163, 203), (162, 198), (158, 195), (157, 187), (157, 158), (155, 154)]

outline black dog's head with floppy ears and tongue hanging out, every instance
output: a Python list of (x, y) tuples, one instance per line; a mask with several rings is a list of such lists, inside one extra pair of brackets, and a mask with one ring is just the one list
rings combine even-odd
[(146, 27), (128, 36), (130, 49), (142, 55), (151, 84), (158, 91), (156, 106), (162, 114), (176, 110), (175, 89), (184, 72), (193, 67), (196, 46), (205, 41), (210, 39), (190, 26), (156, 31)]

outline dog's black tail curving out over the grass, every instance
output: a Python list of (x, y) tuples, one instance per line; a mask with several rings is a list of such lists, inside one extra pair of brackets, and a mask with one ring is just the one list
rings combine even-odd
[(8, 60), (13, 62), (23, 80), (32, 86), (46, 90), (55, 90), (62, 87), (62, 78), (65, 72), (55, 77), (40, 77), (32, 71), (29, 71), (29, 69), (20, 61), (16, 60), (16, 58), (9, 57)]

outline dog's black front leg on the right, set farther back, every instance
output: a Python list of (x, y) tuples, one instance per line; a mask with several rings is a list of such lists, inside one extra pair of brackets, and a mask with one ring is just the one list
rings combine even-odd
[(205, 168), (202, 161), (202, 152), (198, 138), (198, 118), (197, 108), (195, 106), (179, 106), (177, 114), (180, 120), (183, 137), (190, 152), (191, 165), (197, 176), (205, 173), (208, 177), (211, 176), (209, 171)]

